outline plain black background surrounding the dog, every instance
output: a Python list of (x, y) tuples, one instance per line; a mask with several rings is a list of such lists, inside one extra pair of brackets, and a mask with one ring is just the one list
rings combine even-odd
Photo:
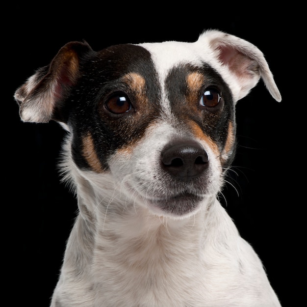
[(262, 259), (282, 306), (295, 306), (289, 262), (294, 251), (293, 194), (298, 193), (293, 191), (297, 179), (291, 147), (297, 143), (298, 122), (293, 117), (293, 87), (289, 88), (289, 83), (293, 86), (287, 63), (289, 12), (280, 8), (275, 14), (258, 7), (246, 12), (241, 8), (240, 13), (232, 8), (231, 13), (220, 3), (211, 8), (192, 2), (191, 7), (184, 5), (165, 11), (156, 4), (65, 9), (15, 4), (2, 12), (9, 20), (2, 27), (2, 175), (3, 194), (7, 195), (2, 202), (3, 254), (8, 255), (4, 269), (11, 272), (6, 287), (17, 289), (16, 294), (7, 295), (12, 301), (9, 306), (20, 306), (18, 301), (32, 307), (48, 306), (77, 210), (74, 196), (59, 183), (56, 169), (61, 127), (54, 122), (21, 122), (13, 99), (15, 89), (72, 40), (85, 39), (98, 51), (118, 43), (195, 41), (207, 28), (255, 44), (281, 91), (282, 102), (278, 103), (260, 81), (238, 102), (239, 146), (233, 164), (237, 175), (232, 173), (230, 178), (238, 195), (227, 185), (223, 191), (227, 205), (223, 204)]

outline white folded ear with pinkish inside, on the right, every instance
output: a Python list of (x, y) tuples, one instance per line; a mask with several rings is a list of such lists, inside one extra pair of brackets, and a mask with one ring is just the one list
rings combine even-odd
[(229, 80), (235, 101), (245, 97), (260, 78), (273, 98), (281, 101), (281, 94), (268, 63), (255, 45), (218, 30), (205, 31), (198, 42), (202, 43), (203, 40), (209, 44), (214, 56), (222, 64), (223, 78)]

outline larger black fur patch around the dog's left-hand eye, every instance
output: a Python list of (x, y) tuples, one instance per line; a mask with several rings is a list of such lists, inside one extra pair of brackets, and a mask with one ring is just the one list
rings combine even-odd
[[(160, 88), (150, 53), (134, 45), (116, 45), (95, 53), (80, 63), (80, 78), (68, 99), (68, 123), (73, 128), (73, 157), (78, 167), (89, 167), (80, 154), (82, 137), (90, 133), (102, 167), (116, 149), (138, 140), (159, 113)], [(128, 73), (144, 76), (144, 101), (122, 79)], [(113, 93), (128, 95), (132, 110), (123, 116), (104, 112)], [(146, 98), (146, 99), (145, 99)]]

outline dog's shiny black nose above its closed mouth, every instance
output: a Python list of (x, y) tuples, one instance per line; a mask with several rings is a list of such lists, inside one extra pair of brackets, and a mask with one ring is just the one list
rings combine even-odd
[(188, 182), (208, 167), (208, 156), (196, 141), (181, 140), (163, 149), (161, 162), (174, 178)]

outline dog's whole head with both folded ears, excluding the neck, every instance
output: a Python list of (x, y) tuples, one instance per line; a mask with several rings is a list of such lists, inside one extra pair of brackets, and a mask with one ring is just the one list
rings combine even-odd
[(99, 52), (70, 42), (15, 99), (23, 121), (55, 120), (70, 132), (67, 165), (75, 176), (96, 188), (108, 178), (125, 205), (130, 199), (184, 217), (223, 186), (235, 150), (235, 104), (260, 78), (280, 101), (262, 53), (210, 30), (193, 43)]

